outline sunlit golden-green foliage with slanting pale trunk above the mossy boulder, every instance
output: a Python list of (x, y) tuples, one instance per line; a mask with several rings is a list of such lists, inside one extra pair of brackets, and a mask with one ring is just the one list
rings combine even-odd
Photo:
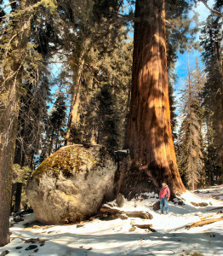
[[(71, 110), (66, 143), (94, 143), (98, 141), (95, 136), (93, 138), (90, 135), (94, 129), (88, 128), (88, 106), (89, 102), (94, 102), (91, 97), (95, 98), (94, 96), (104, 86), (105, 81), (111, 84), (112, 94), (117, 94), (117, 88), (122, 83), (120, 79), (126, 76), (126, 67), (129, 68), (127, 71), (129, 79), (131, 76), (129, 56), (125, 60), (128, 63), (125, 64), (122, 61), (123, 74), (121, 76), (122, 70), (117, 71), (121, 68), (120, 63), (117, 61), (112, 63), (112, 58), (124, 59), (126, 57), (126, 55), (120, 55), (120, 49), (122, 50), (126, 44), (124, 40), (126, 40), (129, 30), (123, 27), (126, 20), (119, 15), (123, 2), (105, 0), (88, 3), (85, 8), (77, 10), (74, 6), (77, 3), (62, 2), (60, 5), (59, 2), (61, 20), (66, 20), (66, 32), (62, 36), (66, 50), (66, 67), (68, 67), (68, 70), (66, 69), (62, 75), (69, 84), (68, 90), (71, 92)], [(67, 15), (68, 13), (69, 15)], [(65, 56), (64, 53), (62, 55)], [(121, 87), (126, 87), (126, 82), (124, 83), (121, 84)], [(128, 90), (126, 95), (128, 97)], [(116, 103), (113, 102), (113, 104)], [(89, 106), (89, 108), (91, 107)], [(123, 108), (126, 109), (126, 106)], [(95, 127), (98, 129), (100, 124), (95, 124)], [(94, 131), (94, 135), (98, 132)]]

